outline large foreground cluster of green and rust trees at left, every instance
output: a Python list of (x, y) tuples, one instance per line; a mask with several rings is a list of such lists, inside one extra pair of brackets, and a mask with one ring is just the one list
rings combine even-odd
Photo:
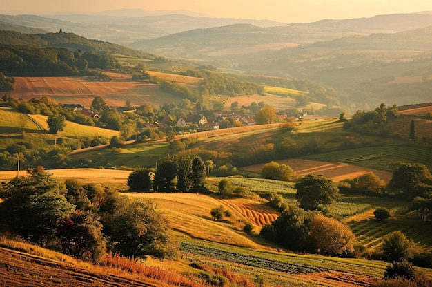
[(150, 201), (132, 201), (109, 187), (61, 182), (43, 168), (0, 189), (1, 231), (98, 262), (107, 251), (126, 257), (170, 257), (170, 228)]

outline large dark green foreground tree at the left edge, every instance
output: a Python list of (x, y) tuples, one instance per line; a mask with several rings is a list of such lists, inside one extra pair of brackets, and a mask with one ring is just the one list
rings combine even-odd
[(75, 210), (65, 194), (64, 183), (43, 168), (28, 170), (28, 177), (10, 180), (2, 190), (0, 221), (10, 232), (46, 246), (55, 238), (57, 222)]

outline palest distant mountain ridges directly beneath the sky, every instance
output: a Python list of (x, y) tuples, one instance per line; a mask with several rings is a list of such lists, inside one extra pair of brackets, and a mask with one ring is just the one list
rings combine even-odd
[[(130, 12), (133, 16), (126, 17)], [(182, 11), (179, 11), (182, 12)], [(235, 24), (250, 24), (280, 33), (283, 41), (312, 43), (328, 41), (353, 34), (401, 32), (432, 25), (432, 14), (389, 14), (371, 18), (322, 20), (313, 23), (279, 23), (269, 20), (229, 19), (197, 17), (185, 14), (157, 14), (144, 10), (113, 10), (98, 14), (49, 15), (1, 15), (0, 22), (39, 28), (48, 32), (73, 32), (88, 39), (98, 39), (141, 48), (150, 39), (190, 30), (219, 28)], [(17, 28), (18, 29), (18, 28)], [(22, 32), (22, 28), (20, 28)], [(295, 41), (295, 39), (298, 39)], [(143, 45), (142, 47), (147, 47)], [(149, 51), (151, 52), (151, 51)], [(162, 55), (164, 56), (164, 55)]]

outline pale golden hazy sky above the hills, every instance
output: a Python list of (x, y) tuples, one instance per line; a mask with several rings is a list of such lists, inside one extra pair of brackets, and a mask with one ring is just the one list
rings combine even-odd
[(1, 14), (94, 13), (121, 8), (190, 10), (210, 17), (285, 23), (431, 11), (431, 0), (0, 0)]

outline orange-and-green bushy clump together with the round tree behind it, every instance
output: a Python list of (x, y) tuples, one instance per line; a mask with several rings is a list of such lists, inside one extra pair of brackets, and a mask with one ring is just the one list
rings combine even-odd
[(334, 218), (322, 214), (324, 206), (337, 199), (339, 189), (324, 176), (306, 175), (295, 184), (297, 206), (287, 206), (277, 197), (268, 198), (282, 214), (260, 235), (291, 250), (347, 255), (354, 251), (355, 236), (351, 229)]

